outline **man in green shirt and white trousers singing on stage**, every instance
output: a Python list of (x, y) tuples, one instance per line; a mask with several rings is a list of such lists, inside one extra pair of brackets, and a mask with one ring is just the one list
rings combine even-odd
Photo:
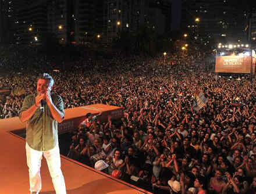
[(61, 171), (58, 143), (58, 123), (64, 119), (62, 98), (51, 94), (53, 78), (42, 74), (37, 81), (37, 94), (26, 96), (19, 118), (26, 121), (26, 155), (29, 167), (30, 193), (41, 191), (40, 167), (42, 156), (47, 160), (56, 194), (66, 194)]

